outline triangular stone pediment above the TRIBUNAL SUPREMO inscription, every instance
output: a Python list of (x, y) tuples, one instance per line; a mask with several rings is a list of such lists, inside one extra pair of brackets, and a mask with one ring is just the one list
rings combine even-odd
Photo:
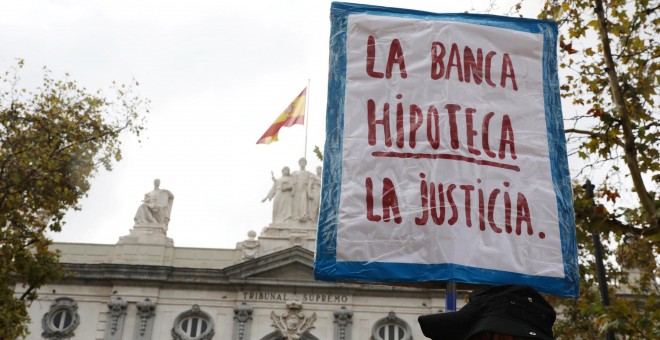
[(229, 279), (314, 281), (314, 253), (296, 246), (227, 267), (225, 274)]

